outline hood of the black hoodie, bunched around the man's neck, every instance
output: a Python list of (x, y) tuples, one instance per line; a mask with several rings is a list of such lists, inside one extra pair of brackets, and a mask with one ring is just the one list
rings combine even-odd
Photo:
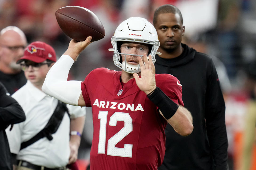
[(155, 59), (157, 63), (166, 67), (175, 67), (185, 65), (189, 61), (193, 60), (195, 57), (196, 50), (190, 48), (186, 44), (181, 44), (181, 46), (183, 47), (184, 50), (180, 56), (175, 58), (161, 58), (156, 54)]

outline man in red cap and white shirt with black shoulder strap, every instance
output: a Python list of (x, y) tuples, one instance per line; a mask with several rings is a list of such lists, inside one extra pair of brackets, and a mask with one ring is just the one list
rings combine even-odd
[(28, 80), (12, 95), (26, 121), (6, 130), (17, 170), (66, 170), (67, 164), (77, 160), (85, 108), (66, 105), (41, 90), (55, 62), (54, 49), (41, 41), (29, 44), (17, 61)]

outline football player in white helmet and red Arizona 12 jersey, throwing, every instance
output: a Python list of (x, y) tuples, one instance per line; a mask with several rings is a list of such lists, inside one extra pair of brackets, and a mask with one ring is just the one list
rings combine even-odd
[(92, 107), (91, 169), (156, 170), (165, 153), (167, 123), (183, 136), (193, 130), (179, 80), (155, 74), (157, 32), (144, 18), (123, 21), (111, 38), (110, 49), (121, 71), (97, 68), (83, 82), (67, 81), (71, 66), (91, 39), (70, 41), (48, 72), (42, 90), (65, 103)]

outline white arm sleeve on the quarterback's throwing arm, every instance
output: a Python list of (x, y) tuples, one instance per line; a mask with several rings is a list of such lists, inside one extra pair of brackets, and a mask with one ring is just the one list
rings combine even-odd
[(64, 103), (78, 105), (82, 93), (81, 81), (67, 81), (73, 63), (70, 56), (62, 55), (47, 73), (42, 91)]

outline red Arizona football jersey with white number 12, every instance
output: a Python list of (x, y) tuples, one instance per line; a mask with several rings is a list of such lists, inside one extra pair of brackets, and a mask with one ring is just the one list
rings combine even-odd
[[(141, 91), (135, 79), (123, 87), (121, 71), (98, 68), (82, 82), (82, 95), (92, 107), (93, 141), (90, 168), (154, 169), (163, 162), (167, 121)], [(176, 77), (156, 74), (156, 85), (175, 103), (183, 105)]]

